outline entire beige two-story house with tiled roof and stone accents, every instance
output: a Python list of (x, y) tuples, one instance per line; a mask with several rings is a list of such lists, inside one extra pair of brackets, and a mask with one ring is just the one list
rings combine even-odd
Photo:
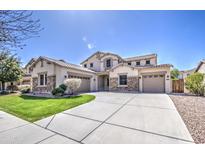
[(96, 52), (80, 65), (39, 57), (31, 66), (32, 89), (48, 92), (66, 78), (82, 80), (79, 92), (133, 91), (171, 92), (170, 64), (157, 64), (157, 55), (122, 58), (109, 52)]

